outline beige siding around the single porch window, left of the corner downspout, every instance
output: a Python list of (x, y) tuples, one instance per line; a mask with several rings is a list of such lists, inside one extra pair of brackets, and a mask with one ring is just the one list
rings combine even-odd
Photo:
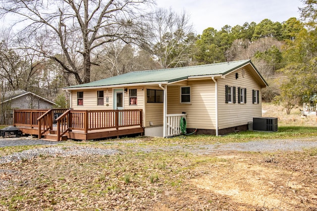
[(167, 114), (187, 113), (188, 128), (215, 128), (215, 98), (212, 80), (189, 81), (191, 103), (180, 103), (180, 87), (167, 88)]

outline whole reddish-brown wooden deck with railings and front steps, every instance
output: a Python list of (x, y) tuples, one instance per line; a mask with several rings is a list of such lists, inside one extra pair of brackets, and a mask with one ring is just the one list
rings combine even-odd
[[(58, 116), (58, 117), (57, 117)], [(93, 140), (144, 133), (142, 110), (21, 110), (13, 125), (25, 134), (52, 140)]]

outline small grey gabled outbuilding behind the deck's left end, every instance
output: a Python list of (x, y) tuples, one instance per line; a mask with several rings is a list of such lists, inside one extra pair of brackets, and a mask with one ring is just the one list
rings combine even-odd
[(49, 109), (56, 103), (31, 91), (15, 90), (1, 93), (0, 124), (12, 124), (13, 109)]

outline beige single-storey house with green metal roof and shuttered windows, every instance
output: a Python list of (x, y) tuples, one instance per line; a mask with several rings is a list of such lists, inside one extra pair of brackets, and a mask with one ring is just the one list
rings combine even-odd
[[(262, 116), (267, 83), (251, 60), (127, 74), (65, 87), (74, 110), (142, 109), (146, 136), (187, 132), (225, 134), (247, 130)], [(121, 117), (122, 118), (122, 117)]]

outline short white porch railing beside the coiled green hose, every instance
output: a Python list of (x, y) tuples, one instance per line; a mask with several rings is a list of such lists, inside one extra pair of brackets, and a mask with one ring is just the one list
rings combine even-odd
[(181, 118), (186, 118), (186, 114), (167, 114), (166, 115), (166, 134), (165, 137), (182, 134), (180, 127)]

